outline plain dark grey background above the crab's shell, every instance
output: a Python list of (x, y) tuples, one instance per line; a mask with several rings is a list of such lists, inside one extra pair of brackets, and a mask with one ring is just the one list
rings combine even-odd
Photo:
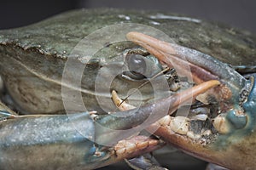
[(73, 8), (99, 7), (163, 10), (256, 32), (255, 0), (2, 0), (0, 29), (26, 26)]

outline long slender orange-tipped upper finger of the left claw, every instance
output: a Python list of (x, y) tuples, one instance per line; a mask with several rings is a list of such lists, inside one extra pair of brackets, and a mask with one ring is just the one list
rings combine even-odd
[(160, 120), (160, 118), (171, 115), (181, 105), (218, 85), (219, 82), (216, 80), (203, 82), (151, 105), (116, 112), (108, 116), (98, 116), (96, 117), (96, 143), (113, 145), (121, 139), (126, 139)]

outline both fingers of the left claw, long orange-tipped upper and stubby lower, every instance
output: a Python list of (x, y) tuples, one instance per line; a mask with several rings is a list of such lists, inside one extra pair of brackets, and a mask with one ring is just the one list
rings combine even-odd
[[(140, 148), (137, 145), (142, 145), (142, 143), (137, 144), (137, 138), (141, 137), (134, 137), (134, 134), (137, 134), (143, 129), (149, 127), (154, 122), (160, 120), (163, 116), (171, 115), (179, 106), (186, 104), (186, 102), (191, 99), (195, 99), (197, 95), (205, 93), (207, 90), (218, 85), (219, 82), (216, 80), (202, 82), (200, 85), (186, 89), (179, 94), (174, 94), (165, 99), (161, 99), (154, 104), (144, 105), (138, 109), (135, 108), (128, 111), (123, 110), (115, 112), (113, 114), (108, 114), (107, 116), (96, 116), (95, 142), (96, 144), (103, 145), (103, 147), (107, 148), (108, 146), (112, 147), (114, 145), (115, 156), (117, 156), (117, 158), (110, 158), (110, 160), (108, 160), (108, 164), (112, 161), (117, 161), (117, 159), (129, 158), (159, 149), (159, 145), (162, 143), (156, 142), (154, 139), (147, 139), (147, 148), (145, 150), (143, 148), (136, 151), (131, 150), (131, 146), (132, 148), (137, 149)], [(154, 126), (151, 130), (155, 131), (158, 127), (159, 126)], [(129, 139), (131, 136), (133, 136), (133, 138)], [(130, 140), (132, 140), (132, 142), (135, 141), (135, 143), (131, 144)], [(128, 147), (124, 145), (128, 145)]]

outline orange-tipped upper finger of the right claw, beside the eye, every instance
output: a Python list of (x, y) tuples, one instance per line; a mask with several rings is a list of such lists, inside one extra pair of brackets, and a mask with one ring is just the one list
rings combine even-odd
[[(241, 90), (246, 86), (247, 81), (244, 77), (229, 65), (218, 59), (213, 59), (207, 54), (177, 44), (163, 42), (139, 32), (129, 32), (126, 37), (146, 48), (162, 63), (174, 67), (179, 75), (192, 77), (192, 80), (197, 84), (208, 80), (223, 82), (229, 88), (223, 88), (221, 97), (225, 99), (231, 97), (236, 99), (234, 95), (241, 93)], [(238, 101), (236, 102), (238, 103)]]

